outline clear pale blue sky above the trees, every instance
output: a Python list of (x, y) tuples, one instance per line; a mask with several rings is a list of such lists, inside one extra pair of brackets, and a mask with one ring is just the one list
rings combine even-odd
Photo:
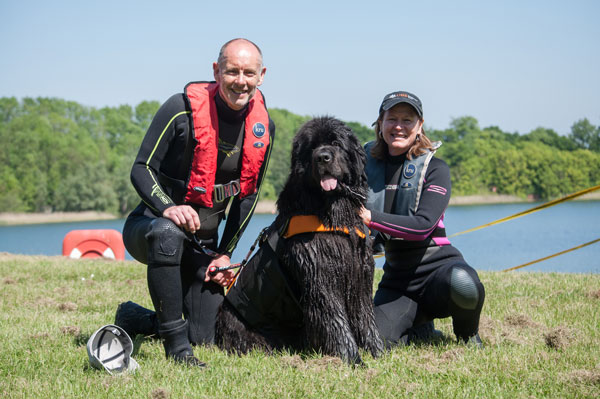
[(417, 94), (430, 128), (600, 125), (600, 1), (0, 0), (0, 96), (103, 107), (211, 80), (220, 46), (263, 50), (269, 107), (368, 124)]

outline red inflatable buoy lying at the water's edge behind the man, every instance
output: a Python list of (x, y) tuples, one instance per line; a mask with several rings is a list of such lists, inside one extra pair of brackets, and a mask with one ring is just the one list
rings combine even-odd
[(63, 256), (124, 260), (123, 236), (117, 230), (72, 230), (63, 240)]

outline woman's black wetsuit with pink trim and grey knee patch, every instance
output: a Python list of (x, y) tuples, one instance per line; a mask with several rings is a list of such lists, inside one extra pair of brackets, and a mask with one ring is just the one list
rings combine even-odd
[(443, 216), (450, 200), (450, 170), (432, 158), (414, 215), (389, 210), (401, 195), (396, 171), (404, 155), (386, 159), (388, 212), (371, 209), (371, 229), (385, 233), (384, 274), (375, 294), (377, 324), (389, 343), (406, 341), (409, 328), (452, 316), (454, 332), (466, 339), (478, 331), (484, 288), (477, 272), (445, 236)]

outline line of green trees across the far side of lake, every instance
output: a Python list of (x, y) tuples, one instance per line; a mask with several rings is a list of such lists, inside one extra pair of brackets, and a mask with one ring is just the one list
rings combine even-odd
[[(160, 104), (93, 108), (57, 98), (0, 98), (0, 212), (104, 211), (124, 215), (139, 202), (129, 172)], [(276, 141), (261, 199), (287, 178), (292, 138), (310, 117), (269, 109)], [(361, 142), (371, 128), (347, 122)], [(561, 136), (480, 128), (466, 116), (427, 135), (450, 166), (453, 195), (554, 198), (600, 183), (600, 127), (587, 119)]]

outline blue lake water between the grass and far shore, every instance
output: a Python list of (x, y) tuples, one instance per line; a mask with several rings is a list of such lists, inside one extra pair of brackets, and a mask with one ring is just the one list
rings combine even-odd
[[(532, 208), (537, 204), (451, 206), (446, 212), (448, 235)], [(233, 254), (239, 262), (260, 230), (274, 215), (254, 215)], [(0, 252), (61, 255), (62, 240), (71, 230), (115, 229), (124, 219), (77, 223), (0, 226)], [(477, 270), (503, 270), (600, 238), (600, 201), (563, 203), (505, 223), (451, 238)], [(126, 254), (127, 259), (132, 259)], [(377, 259), (383, 266), (383, 259)], [(523, 271), (600, 273), (600, 242), (527, 266)]]

